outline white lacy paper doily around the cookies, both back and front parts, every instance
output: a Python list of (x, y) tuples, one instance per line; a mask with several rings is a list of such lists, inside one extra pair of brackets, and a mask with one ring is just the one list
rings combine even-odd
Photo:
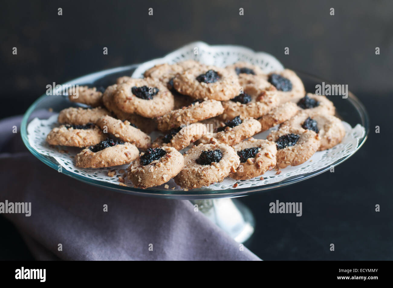
[[(209, 46), (204, 42), (193, 42), (167, 54), (163, 58), (154, 59), (140, 64), (140, 66), (138, 66), (138, 68), (132, 74), (132, 77), (143, 77), (143, 72), (156, 64), (173, 64), (188, 59), (194, 59), (204, 64), (211, 64), (219, 67), (225, 67), (238, 61), (245, 61), (259, 66), (266, 73), (284, 69), (283, 65), (275, 57), (268, 53), (255, 52), (242, 46)], [(301, 165), (295, 167), (290, 166), (282, 169), (281, 173), (278, 175), (274, 170), (268, 171), (263, 175), (263, 180), (260, 180), (260, 177), (241, 181), (236, 181), (232, 178), (226, 178), (221, 183), (210, 185), (209, 188), (213, 190), (221, 190), (255, 187), (280, 182), (289, 177), (317, 171), (324, 167), (329, 167), (335, 161), (354, 153), (359, 145), (359, 140), (364, 137), (365, 129), (360, 124), (356, 125), (354, 128), (352, 128), (346, 122), (343, 122), (343, 125), (345, 127), (346, 135), (342, 143), (336, 145), (332, 149), (316, 152), (308, 161)], [(59, 165), (61, 165), (62, 169), (66, 169), (72, 173), (98, 181), (119, 184), (118, 176), (122, 176), (122, 173), (120, 173), (119, 170), (126, 170), (129, 166), (128, 164), (100, 169), (82, 169), (76, 167), (74, 164), (74, 156), (80, 152), (81, 149), (74, 147), (53, 148), (50, 147), (48, 143), (46, 143), (46, 135), (48, 135), (52, 128), (57, 126), (59, 126), (57, 123), (57, 115), (53, 115), (49, 119), (45, 120), (38, 118), (33, 119), (27, 128), (28, 141), (31, 147), (42, 155), (53, 157), (59, 163)], [(271, 128), (270, 130), (274, 128)], [(259, 133), (255, 135), (254, 138), (266, 139), (266, 136), (270, 133), (270, 130)], [(151, 136), (152, 139), (155, 139), (156, 133)], [(116, 170), (116, 175), (114, 177), (108, 176), (108, 171), (113, 169)], [(235, 183), (238, 184), (237, 187), (233, 187)], [(130, 183), (127, 179), (125, 184), (127, 186), (133, 187), (132, 183)], [(174, 183), (173, 179), (171, 179), (166, 184), (169, 185), (169, 189), (175, 187), (174, 190), (182, 190), (179, 186), (176, 185), (176, 183)], [(165, 189), (165, 185), (154, 188)]]

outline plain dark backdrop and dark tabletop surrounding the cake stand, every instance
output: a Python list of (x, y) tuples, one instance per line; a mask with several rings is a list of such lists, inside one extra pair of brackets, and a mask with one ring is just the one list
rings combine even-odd
[[(334, 173), (242, 197), (257, 220), (246, 246), (265, 260), (393, 259), (392, 1), (7, 1), (0, 23), (0, 118), (24, 113), (47, 84), (162, 57), (195, 40), (266, 51), (287, 68), (348, 84), (369, 113), (369, 139)], [(276, 199), (303, 202), (303, 216), (270, 214)], [(0, 226), (0, 259), (32, 259), (2, 216)]]

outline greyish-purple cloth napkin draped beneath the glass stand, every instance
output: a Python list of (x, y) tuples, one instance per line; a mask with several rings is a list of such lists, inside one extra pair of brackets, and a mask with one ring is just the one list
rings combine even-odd
[(260, 260), (189, 201), (121, 194), (51, 169), (26, 152), (20, 120), (0, 121), (0, 202), (31, 202), (31, 216), (1, 215), (38, 260)]

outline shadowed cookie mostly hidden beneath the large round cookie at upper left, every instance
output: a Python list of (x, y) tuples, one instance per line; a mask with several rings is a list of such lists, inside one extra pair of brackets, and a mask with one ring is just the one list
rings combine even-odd
[(151, 133), (157, 127), (156, 121), (154, 121), (151, 118), (142, 117), (138, 114), (130, 114), (121, 111), (113, 101), (113, 96), (114, 93), (116, 92), (116, 89), (117, 89), (117, 84), (114, 84), (112, 86), (108, 86), (108, 88), (105, 90), (102, 96), (102, 100), (105, 107), (107, 107), (107, 109), (110, 112), (115, 114), (118, 119), (121, 120), (125, 119), (130, 123), (134, 124), (136, 127), (140, 128), (143, 132), (147, 134)]

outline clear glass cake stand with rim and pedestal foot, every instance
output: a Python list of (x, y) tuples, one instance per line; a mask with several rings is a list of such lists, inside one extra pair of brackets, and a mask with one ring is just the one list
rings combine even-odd
[[(138, 65), (139, 64), (135, 64), (92, 73), (64, 84), (79, 84), (106, 87), (108, 85), (116, 83), (116, 79), (120, 76), (132, 75), (132, 72), (134, 72)], [(322, 82), (325, 82), (326, 84), (329, 83), (329, 81), (321, 80), (318, 77), (309, 75), (307, 73), (297, 73), (299, 77), (303, 80), (306, 91), (315, 91), (316, 84), (321, 84)], [(369, 119), (364, 106), (351, 92), (349, 92), (349, 96), (347, 99), (343, 99), (341, 96), (333, 96), (329, 99), (334, 103), (334, 105), (336, 106), (337, 114), (343, 120), (349, 123), (352, 127), (354, 127), (356, 124), (360, 124), (365, 128), (364, 137), (360, 139), (358, 147), (356, 148), (356, 150), (358, 150), (364, 144), (365, 140), (367, 139), (367, 134), (369, 132)], [(37, 99), (26, 111), (20, 127), (22, 140), (26, 147), (31, 151), (31, 153), (33, 153), (34, 156), (36, 156), (46, 165), (49, 165), (56, 170), (58, 170), (59, 163), (53, 157), (40, 154), (29, 144), (27, 136), (27, 126), (28, 123), (35, 117), (35, 114), (38, 114), (39, 112), (48, 110), (53, 110), (53, 112), (59, 112), (60, 110), (68, 108), (70, 106), (75, 105), (72, 105), (68, 101), (68, 98), (66, 96), (54, 96), (44, 94), (39, 97), (39, 99)], [(95, 185), (104, 189), (110, 189), (116, 192), (148, 197), (191, 200), (194, 205), (198, 205), (198, 209), (202, 213), (208, 216), (208, 218), (210, 218), (219, 227), (224, 229), (224, 231), (226, 231), (232, 238), (234, 238), (238, 242), (244, 242), (252, 235), (254, 231), (254, 219), (252, 213), (247, 207), (245, 207), (241, 202), (231, 198), (246, 196), (249, 194), (271, 189), (277, 189), (286, 185), (306, 180), (310, 177), (316, 176), (329, 170), (332, 166), (336, 166), (342, 163), (343, 161), (347, 160), (351, 155), (352, 154), (345, 156), (335, 161), (332, 165), (327, 165), (326, 167), (322, 167), (317, 171), (286, 178), (281, 182), (259, 186), (256, 185), (246, 188), (223, 190), (201, 188), (192, 189), (189, 191), (179, 191), (171, 189), (160, 189), (157, 187), (153, 187), (150, 189), (139, 189), (134, 187), (120, 186), (113, 183), (88, 178), (79, 174), (75, 174), (71, 171), (67, 171), (66, 169), (63, 169), (62, 173), (79, 181)]]

